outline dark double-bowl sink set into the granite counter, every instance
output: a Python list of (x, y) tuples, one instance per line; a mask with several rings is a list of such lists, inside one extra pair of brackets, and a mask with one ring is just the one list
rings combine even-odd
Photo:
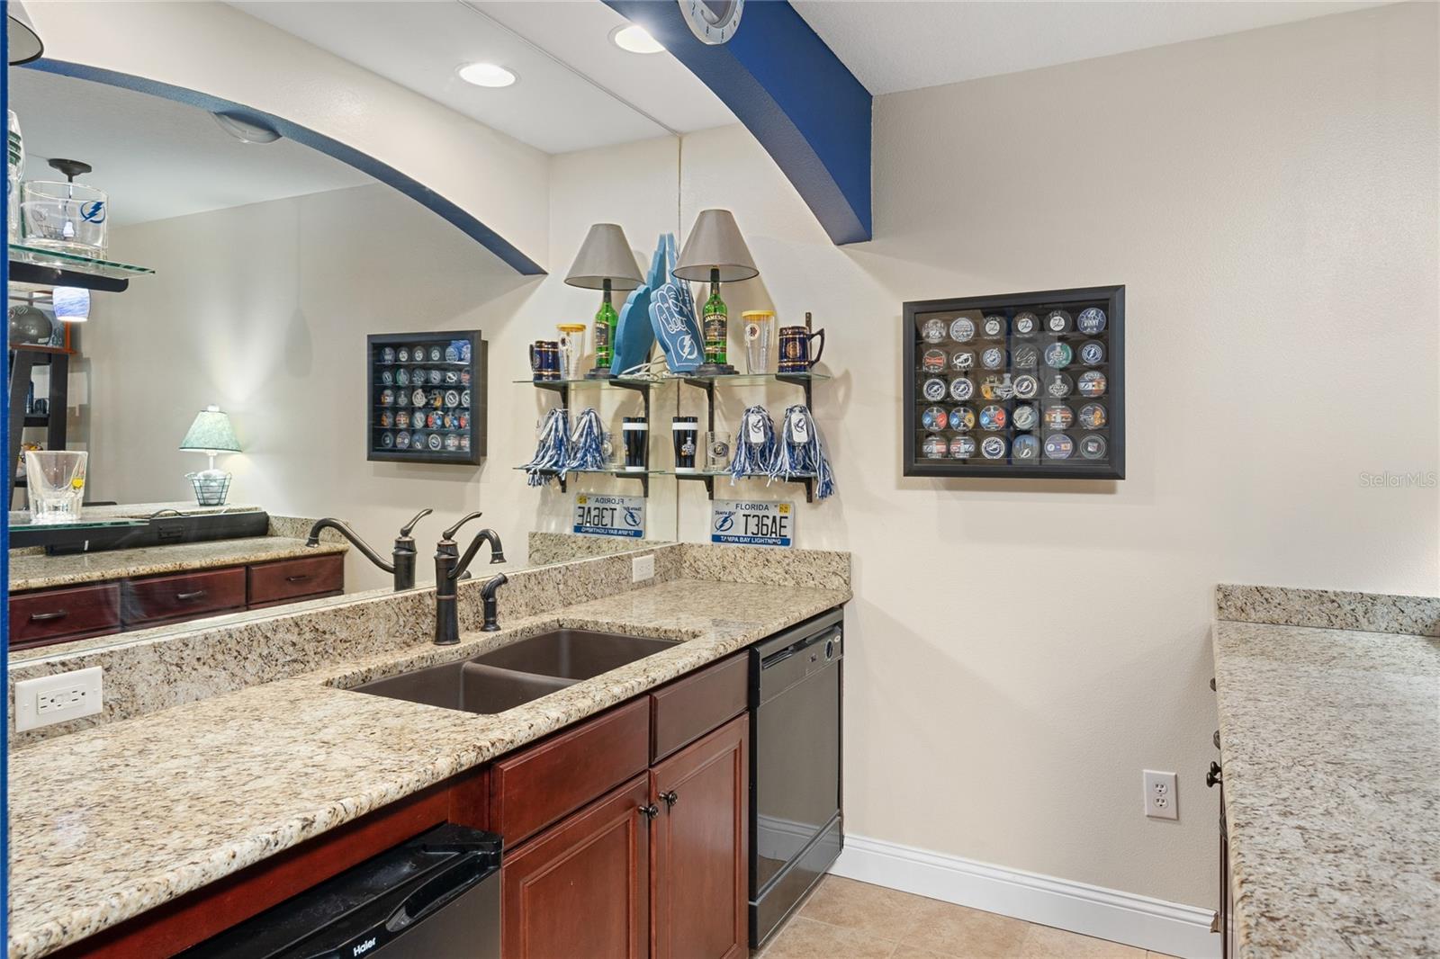
[(677, 642), (618, 632), (553, 629), (459, 662), (374, 680), (353, 691), (465, 713), (504, 713)]

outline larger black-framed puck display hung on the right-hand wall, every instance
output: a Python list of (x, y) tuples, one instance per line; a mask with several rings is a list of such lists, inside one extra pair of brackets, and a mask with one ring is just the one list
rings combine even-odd
[(1125, 478), (1125, 287), (904, 304), (907, 477)]

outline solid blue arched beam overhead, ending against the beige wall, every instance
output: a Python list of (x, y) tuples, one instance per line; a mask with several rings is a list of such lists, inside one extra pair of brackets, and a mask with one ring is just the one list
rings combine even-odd
[(641, 23), (730, 108), (837, 243), (870, 239), (870, 91), (785, 0), (749, 0), (708, 46), (680, 4), (605, 0)]

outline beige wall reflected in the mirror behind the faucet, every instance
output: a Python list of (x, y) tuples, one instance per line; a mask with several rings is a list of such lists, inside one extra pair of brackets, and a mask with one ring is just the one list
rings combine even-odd
[[(78, 395), (86, 406), (94, 498), (187, 498), (184, 474), (204, 459), (177, 446), (194, 412), (217, 403), (245, 446), (219, 464), (235, 474), (233, 501), (347, 518), (382, 553), (422, 507), (452, 518), (484, 510), (510, 559), (523, 560), (526, 533), (564, 528), (573, 504), (573, 490), (531, 490), (513, 469), (534, 452), (536, 420), (554, 402), (513, 382), (528, 376), (526, 343), (553, 337), (556, 323), (593, 315), (599, 294), (563, 284), (592, 222), (621, 222), (647, 262), (654, 236), (675, 229), (672, 140), (550, 163), (554, 202), (534, 216), (547, 220), (550, 256), (563, 266), (544, 278), (516, 275), (383, 186), (115, 230), (112, 255), (157, 272), (124, 295), (96, 297), (84, 331), (76, 379), (84, 380)], [(475, 327), (490, 343), (484, 465), (367, 462), (366, 334)], [(629, 396), (590, 390), (577, 395), (577, 405), (602, 402), (602, 413), (618, 422), (631, 412), (622, 409), (634, 405)], [(629, 491), (608, 478), (588, 488)], [(672, 495), (672, 485), (655, 484), (654, 539), (674, 536)], [(438, 518), (423, 521), (416, 533), (423, 554), (441, 528)], [(353, 587), (387, 582), (359, 556), (350, 557), (347, 576)]]

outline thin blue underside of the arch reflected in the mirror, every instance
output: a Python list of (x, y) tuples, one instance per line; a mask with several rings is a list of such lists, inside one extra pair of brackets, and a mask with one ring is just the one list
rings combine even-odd
[(99, 84), (109, 84), (111, 86), (122, 86), (125, 89), (134, 89), (141, 94), (151, 94), (154, 96), (164, 96), (166, 99), (173, 99), (181, 104), (189, 104), (192, 107), (199, 107), (210, 112), (226, 112), (235, 117), (240, 117), (251, 122), (259, 124), (281, 134), (287, 140), (294, 140), (312, 150), (334, 157), (341, 163), (346, 163), (361, 173), (366, 173), (380, 183), (393, 187), (410, 197), (416, 203), (433, 210), (445, 220), (456, 226), (462, 233), (469, 236), (472, 240), (488, 249), (491, 253), (498, 256), (501, 261), (508, 264), (516, 272), (524, 274), (527, 276), (543, 275), (546, 271), (533, 259), (526, 256), (520, 249), (517, 249), (510, 240), (492, 230), (491, 228), (481, 223), (472, 215), (456, 206), (455, 203), (446, 200), (444, 196), (425, 186), (419, 180), (405, 176), (392, 166), (387, 166), (367, 153), (361, 153), (354, 147), (344, 144), (333, 137), (327, 137), (321, 132), (315, 132), (308, 127), (301, 127), (300, 124), (285, 120), (284, 117), (276, 117), (275, 114), (268, 114), (265, 111), (252, 109), (242, 104), (236, 104), (229, 99), (222, 99), (219, 96), (210, 96), (209, 94), (202, 94), (184, 86), (174, 86), (171, 84), (161, 84), (158, 81), (147, 79), (144, 76), (134, 76), (131, 73), (120, 73), (117, 71), (101, 69), (98, 66), (88, 66), (85, 63), (69, 63), (65, 60), (52, 60), (49, 58), (40, 58), (33, 63), (26, 63), (29, 69), (45, 71), (48, 73), (60, 73), (63, 76), (76, 76), (81, 79), (96, 81)]

